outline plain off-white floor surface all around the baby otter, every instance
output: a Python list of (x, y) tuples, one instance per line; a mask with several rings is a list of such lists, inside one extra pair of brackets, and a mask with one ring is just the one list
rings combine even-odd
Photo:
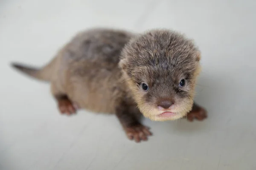
[[(204, 122), (151, 122), (126, 139), (114, 116), (61, 116), (49, 85), (12, 70), (44, 65), (77, 31), (174, 28), (203, 54)], [(256, 170), (255, 0), (1, 0), (0, 170)]]

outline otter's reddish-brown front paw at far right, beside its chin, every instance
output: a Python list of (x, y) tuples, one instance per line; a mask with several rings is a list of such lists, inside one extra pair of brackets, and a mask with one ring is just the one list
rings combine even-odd
[(192, 110), (185, 116), (192, 122), (194, 119), (203, 120), (207, 118), (207, 111), (196, 103), (193, 104)]

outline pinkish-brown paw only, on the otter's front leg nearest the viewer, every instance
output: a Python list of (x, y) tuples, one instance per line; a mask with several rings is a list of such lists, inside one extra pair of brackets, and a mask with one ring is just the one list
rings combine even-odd
[(130, 125), (125, 127), (125, 133), (130, 140), (135, 140), (135, 142), (140, 142), (141, 140), (148, 140), (148, 136), (151, 136), (152, 133), (149, 131), (149, 127), (144, 125)]

